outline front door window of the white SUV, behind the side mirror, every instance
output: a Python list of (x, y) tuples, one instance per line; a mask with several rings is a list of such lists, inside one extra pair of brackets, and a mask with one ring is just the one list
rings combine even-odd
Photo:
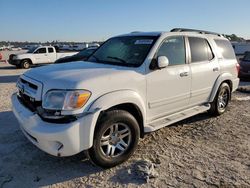
[(170, 37), (166, 39), (157, 52), (157, 57), (166, 56), (169, 65), (180, 65), (186, 63), (186, 52), (184, 37)]

